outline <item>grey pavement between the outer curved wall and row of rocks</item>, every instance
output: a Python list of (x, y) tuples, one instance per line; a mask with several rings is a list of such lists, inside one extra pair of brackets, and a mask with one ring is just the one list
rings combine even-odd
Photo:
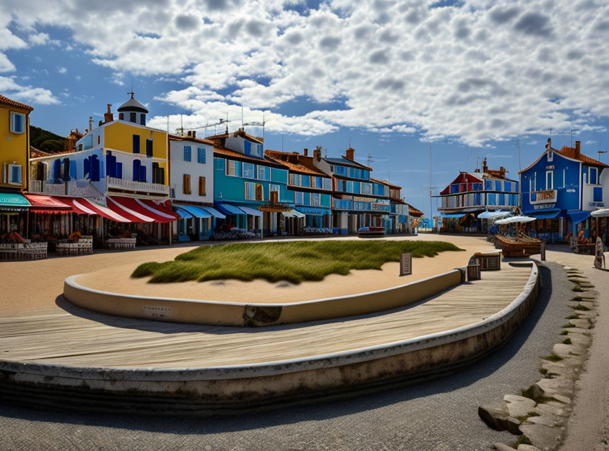
[(482, 402), (539, 379), (570, 309), (562, 267), (541, 268), (538, 304), (507, 345), (435, 381), (225, 419), (41, 412), (0, 404), (0, 450), (491, 450)]

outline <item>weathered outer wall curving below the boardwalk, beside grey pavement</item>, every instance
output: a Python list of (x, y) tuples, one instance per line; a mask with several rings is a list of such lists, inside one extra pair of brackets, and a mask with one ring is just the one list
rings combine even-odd
[(384, 389), (441, 376), (488, 354), (510, 338), (538, 295), (533, 265), (522, 293), (479, 323), (282, 362), (157, 370), (0, 361), (0, 393), (6, 400), (54, 408), (212, 415)]

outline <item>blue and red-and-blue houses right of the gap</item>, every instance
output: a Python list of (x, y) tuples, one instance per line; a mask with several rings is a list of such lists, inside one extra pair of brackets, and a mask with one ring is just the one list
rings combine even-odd
[(522, 213), (536, 218), (527, 233), (547, 242), (579, 235), (600, 236), (609, 244), (608, 218), (604, 212), (591, 215), (609, 204), (608, 168), (582, 154), (579, 141), (559, 150), (550, 138), (539, 158), (519, 172), (519, 180), (508, 178), (503, 167), (489, 169), (485, 159), (481, 169), (460, 172), (436, 196), (441, 199), (441, 231), (492, 233), (493, 218)]

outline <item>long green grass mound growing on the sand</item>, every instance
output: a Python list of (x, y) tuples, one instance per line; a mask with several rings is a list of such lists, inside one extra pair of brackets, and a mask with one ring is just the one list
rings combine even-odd
[(152, 276), (152, 283), (186, 280), (322, 280), (328, 274), (346, 276), (352, 269), (381, 269), (388, 261), (400, 261), (403, 252), (412, 257), (435, 257), (439, 252), (462, 251), (441, 241), (296, 241), (231, 243), (201, 246), (173, 261), (137, 266), (131, 277)]

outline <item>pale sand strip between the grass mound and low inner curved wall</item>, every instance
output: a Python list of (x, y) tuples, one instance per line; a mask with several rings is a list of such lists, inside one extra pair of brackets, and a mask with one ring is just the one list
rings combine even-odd
[[(412, 240), (413, 238), (402, 239)], [(431, 239), (437, 240), (438, 238)], [(441, 237), (441, 240), (444, 240), (444, 237)], [(319, 282), (305, 281), (297, 285), (285, 281), (270, 283), (262, 279), (251, 282), (208, 280), (206, 282), (148, 283), (149, 278), (130, 278), (130, 274), (137, 266), (130, 262), (87, 273), (78, 277), (76, 282), (96, 290), (128, 295), (183, 297), (223, 302), (299, 302), (382, 290), (414, 282), (450, 271), (457, 266), (465, 266), (474, 252), (490, 249), (486, 240), (475, 237), (448, 237), (447, 241), (455, 242), (455, 245), (466, 249), (466, 252), (442, 252), (436, 257), (412, 259), (412, 274), (401, 277), (400, 264), (397, 261), (390, 261), (383, 265), (381, 271), (353, 270), (347, 276), (331, 274)]]

